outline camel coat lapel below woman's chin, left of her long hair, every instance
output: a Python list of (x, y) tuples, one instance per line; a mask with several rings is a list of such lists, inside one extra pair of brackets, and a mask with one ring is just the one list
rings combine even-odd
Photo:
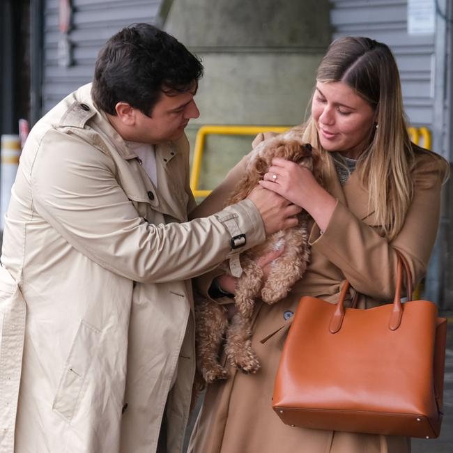
[(353, 171), (348, 181), (341, 185), (337, 174), (328, 180), (327, 190), (333, 197), (347, 206), (359, 220), (374, 214), (374, 208), (368, 206), (368, 190), (360, 183), (357, 171)]

